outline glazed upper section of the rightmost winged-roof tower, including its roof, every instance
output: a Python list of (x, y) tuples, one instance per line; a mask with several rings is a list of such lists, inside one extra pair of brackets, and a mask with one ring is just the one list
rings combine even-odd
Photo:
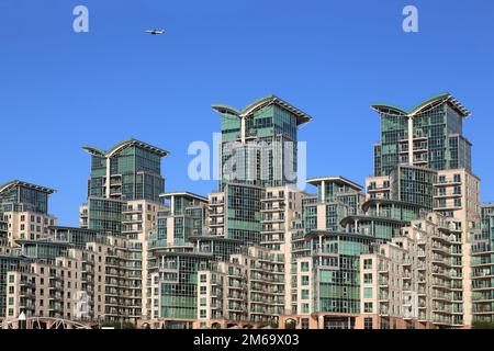
[(463, 136), (470, 112), (450, 93), (412, 110), (374, 104), (381, 115), (381, 140), (374, 145), (374, 176), (389, 176), (397, 165), (434, 170), (472, 169), (471, 144)]

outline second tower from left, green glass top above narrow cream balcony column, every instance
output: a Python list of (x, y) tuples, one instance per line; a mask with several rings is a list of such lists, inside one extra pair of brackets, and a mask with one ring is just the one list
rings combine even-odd
[(119, 283), (128, 287), (133, 308), (121, 318), (136, 321), (148, 315), (148, 244), (164, 208), (159, 200), (165, 191), (161, 158), (168, 151), (136, 139), (119, 143), (108, 151), (92, 146), (83, 149), (91, 155), (91, 172), (80, 226), (124, 239), (126, 276)]

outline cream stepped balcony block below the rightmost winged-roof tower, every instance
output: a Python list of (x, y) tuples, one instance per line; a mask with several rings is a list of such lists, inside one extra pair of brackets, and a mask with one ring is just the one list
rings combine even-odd
[(439, 214), (360, 256), (363, 329), (463, 326), (461, 226)]

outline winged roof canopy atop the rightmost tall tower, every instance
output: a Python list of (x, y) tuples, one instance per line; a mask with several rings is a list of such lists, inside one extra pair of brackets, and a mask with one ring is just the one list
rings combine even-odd
[(430, 99), (427, 99), (416, 106), (414, 106), (412, 110), (404, 110), (395, 105), (391, 104), (372, 104), (372, 109), (375, 110), (379, 113), (390, 113), (395, 114), (400, 116), (407, 116), (407, 117), (414, 117), (427, 110), (430, 110), (441, 103), (449, 103), (457, 112), (462, 116), (463, 118), (468, 117), (470, 115), (470, 111), (468, 111), (452, 94), (449, 92), (442, 93), (436, 97), (433, 97)]

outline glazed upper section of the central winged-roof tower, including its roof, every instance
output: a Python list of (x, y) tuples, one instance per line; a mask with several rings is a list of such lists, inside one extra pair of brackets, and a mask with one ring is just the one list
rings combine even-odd
[(312, 120), (278, 97), (239, 111), (213, 104), (221, 115), (220, 190), (228, 182), (259, 186), (296, 183), (297, 129)]

